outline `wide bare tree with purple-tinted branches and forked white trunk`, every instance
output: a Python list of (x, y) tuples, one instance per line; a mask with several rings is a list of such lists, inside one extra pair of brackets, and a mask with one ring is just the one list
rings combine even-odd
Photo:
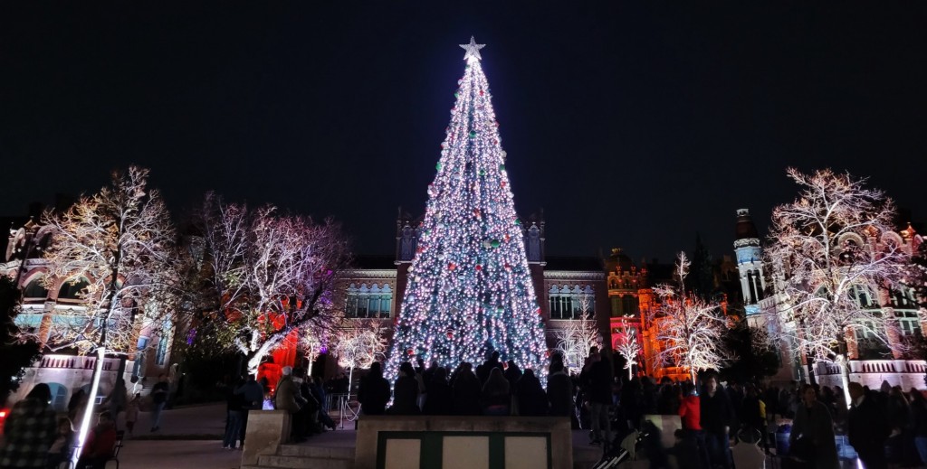
[(294, 330), (337, 319), (334, 287), (349, 261), (337, 224), (281, 215), (273, 206), (248, 210), (211, 194), (198, 224), (214, 337), (245, 355), (249, 373)]

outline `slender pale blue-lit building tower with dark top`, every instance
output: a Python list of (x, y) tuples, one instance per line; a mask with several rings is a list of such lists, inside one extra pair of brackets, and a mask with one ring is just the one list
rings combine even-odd
[(746, 208), (737, 210), (734, 253), (737, 254), (744, 309), (748, 316), (756, 315), (759, 313), (758, 303), (763, 299), (763, 290), (766, 289), (766, 279), (763, 277), (763, 250), (759, 246), (759, 235), (753, 217)]

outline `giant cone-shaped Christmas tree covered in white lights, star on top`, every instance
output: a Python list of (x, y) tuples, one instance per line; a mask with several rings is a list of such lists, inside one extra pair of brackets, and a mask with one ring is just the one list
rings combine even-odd
[(471, 38), (435, 181), (409, 268), (387, 364), (422, 358), (455, 366), (488, 352), (542, 372), (547, 347), (521, 220), (505, 172), (489, 83)]

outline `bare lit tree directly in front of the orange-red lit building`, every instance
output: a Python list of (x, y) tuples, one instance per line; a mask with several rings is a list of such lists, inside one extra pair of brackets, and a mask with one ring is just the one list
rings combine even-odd
[(648, 320), (654, 324), (656, 339), (662, 346), (657, 358), (664, 364), (688, 369), (694, 382), (699, 372), (717, 369), (727, 362), (728, 352), (721, 338), (730, 324), (719, 304), (686, 293), (688, 275), (689, 259), (679, 253), (674, 272), (679, 287), (654, 287), (660, 306)]

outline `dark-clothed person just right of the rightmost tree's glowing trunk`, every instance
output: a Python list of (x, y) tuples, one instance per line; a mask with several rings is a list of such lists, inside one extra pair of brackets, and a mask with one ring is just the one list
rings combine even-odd
[(885, 410), (862, 385), (850, 383), (848, 389), (852, 404), (846, 415), (846, 433), (850, 445), (857, 450), (859, 461), (866, 469), (884, 469), (885, 440), (890, 428)]

